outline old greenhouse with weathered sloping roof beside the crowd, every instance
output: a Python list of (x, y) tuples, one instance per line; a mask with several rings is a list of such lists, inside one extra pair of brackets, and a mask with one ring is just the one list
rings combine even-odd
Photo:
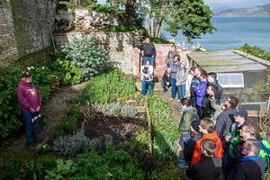
[(190, 66), (202, 67), (207, 73), (217, 73), (223, 87), (221, 103), (229, 95), (238, 97), (238, 108), (249, 115), (269, 112), (269, 94), (264, 93), (267, 68), (270, 63), (239, 50), (193, 52), (187, 55)]

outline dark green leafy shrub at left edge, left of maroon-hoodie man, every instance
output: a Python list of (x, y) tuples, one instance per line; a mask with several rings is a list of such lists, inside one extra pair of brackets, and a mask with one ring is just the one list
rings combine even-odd
[(16, 94), (22, 74), (23, 67), (0, 67), (1, 141), (23, 125), (22, 111)]

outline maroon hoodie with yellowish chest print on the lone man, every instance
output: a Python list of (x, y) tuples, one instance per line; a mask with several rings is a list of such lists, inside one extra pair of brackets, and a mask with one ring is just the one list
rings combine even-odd
[(17, 87), (17, 95), (23, 112), (30, 112), (30, 108), (36, 109), (41, 106), (40, 91), (33, 83), (21, 81)]

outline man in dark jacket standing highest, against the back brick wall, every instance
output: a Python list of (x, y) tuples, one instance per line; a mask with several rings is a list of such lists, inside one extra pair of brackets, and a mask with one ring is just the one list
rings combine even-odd
[(157, 51), (154, 44), (150, 43), (150, 39), (145, 39), (146, 43), (139, 45), (137, 48), (143, 50), (142, 54), (142, 65), (145, 64), (146, 60), (149, 59), (154, 68), (156, 68), (155, 58), (157, 56)]

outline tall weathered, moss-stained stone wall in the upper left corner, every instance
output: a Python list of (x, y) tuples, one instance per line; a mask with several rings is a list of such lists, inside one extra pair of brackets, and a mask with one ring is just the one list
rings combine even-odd
[(27, 66), (49, 57), (55, 8), (54, 0), (1, 0), (0, 65)]

